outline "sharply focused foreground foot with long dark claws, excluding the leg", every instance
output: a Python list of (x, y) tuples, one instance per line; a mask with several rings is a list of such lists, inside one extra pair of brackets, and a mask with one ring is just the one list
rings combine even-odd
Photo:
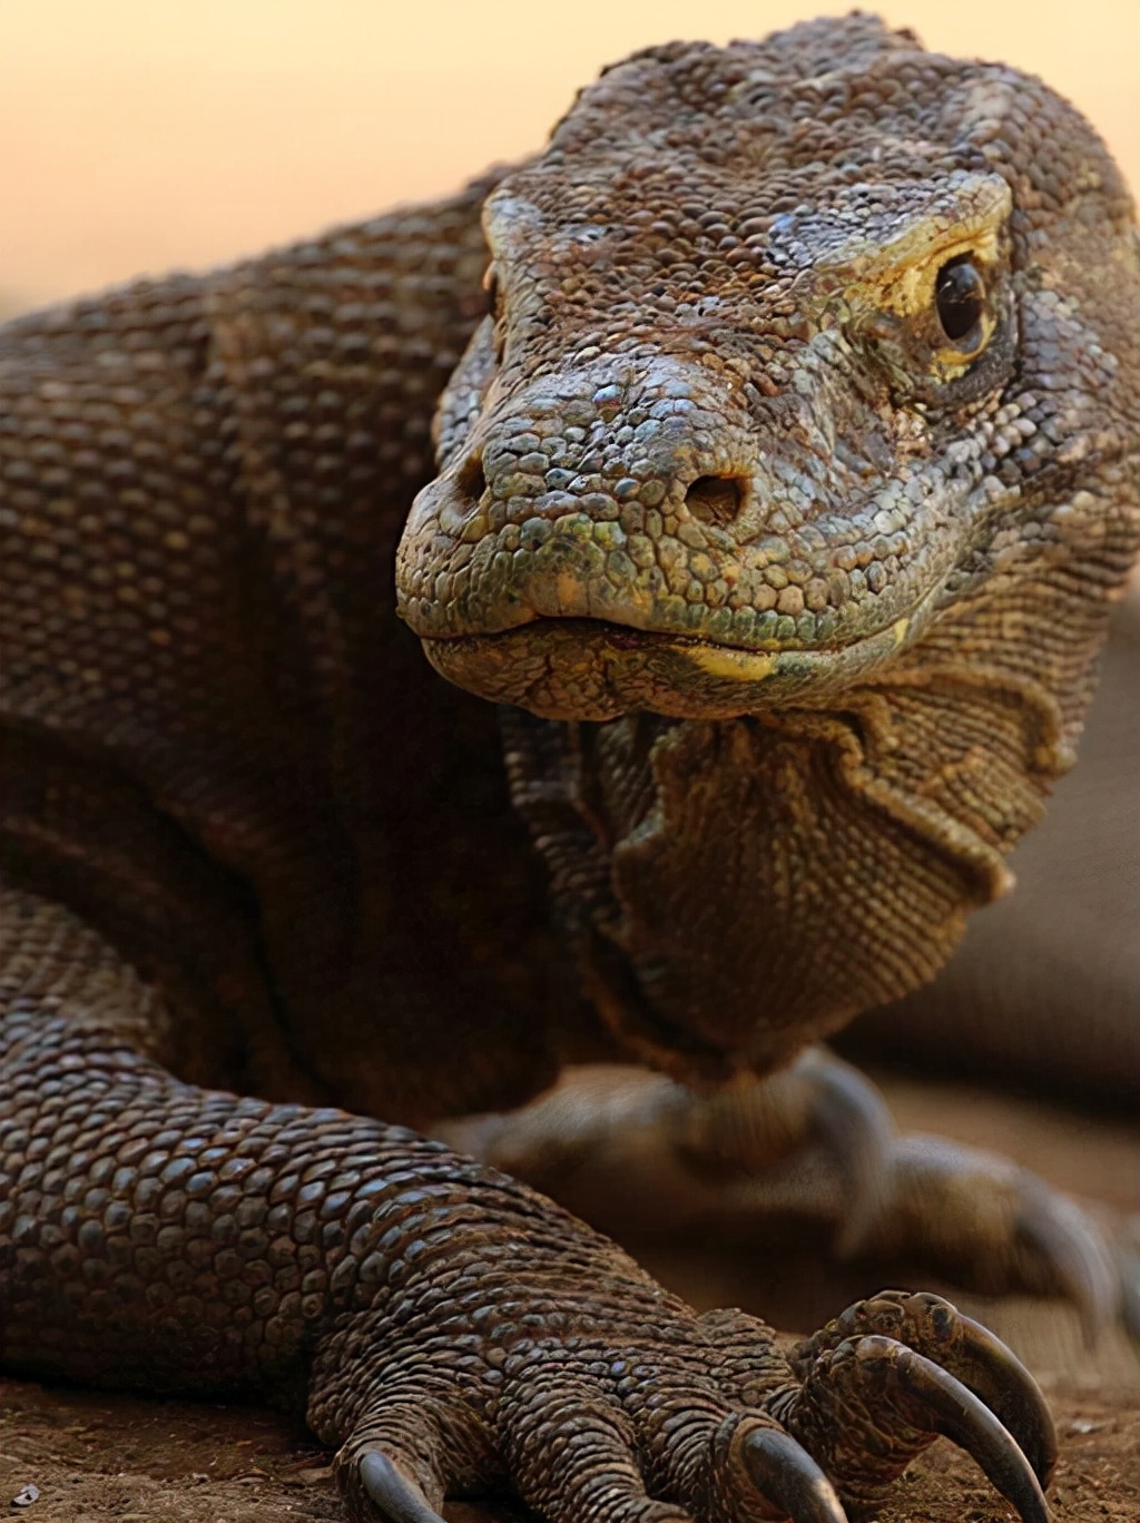
[(353, 1515), (441, 1523), (444, 1496), (510, 1488), (549, 1523), (845, 1523), (942, 1433), (1047, 1523), (1044, 1400), (938, 1296), (884, 1292), (787, 1357), (741, 1311), (645, 1311), (583, 1336), (519, 1305), (510, 1337), (422, 1334), (338, 1456)]

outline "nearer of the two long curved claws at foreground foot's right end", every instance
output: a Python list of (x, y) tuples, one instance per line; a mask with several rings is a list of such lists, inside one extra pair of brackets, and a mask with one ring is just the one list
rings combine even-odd
[(860, 1339), (854, 1354), (869, 1372), (875, 1365), (886, 1366), (883, 1375), (916, 1403), (916, 1426), (942, 1433), (971, 1454), (1024, 1523), (1049, 1523), (1033, 1467), (985, 1401), (960, 1380), (906, 1343), (875, 1334)]

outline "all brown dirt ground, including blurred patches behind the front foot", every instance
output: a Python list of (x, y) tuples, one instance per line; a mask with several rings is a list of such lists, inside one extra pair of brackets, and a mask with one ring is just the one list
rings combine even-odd
[[(1000, 1147), (1067, 1189), (1140, 1209), (1140, 1125), (889, 1081), (909, 1129)], [(828, 1267), (747, 1244), (630, 1244), (694, 1305), (741, 1305), (810, 1330), (884, 1282), (881, 1266)], [(779, 1263), (773, 1264), (772, 1260)], [(890, 1282), (906, 1284), (907, 1279)], [(913, 1284), (915, 1279), (910, 1278)], [(794, 1295), (787, 1285), (796, 1287)], [(1055, 1523), (1140, 1523), (1140, 1357), (1122, 1336), (1088, 1349), (1076, 1314), (1029, 1299), (988, 1302), (944, 1290), (1003, 1337), (1041, 1381), (1061, 1436), (1049, 1493)], [(140, 1401), (0, 1381), (0, 1515), (29, 1523), (341, 1523), (330, 1453), (265, 1410)], [(27, 1500), (37, 1488), (35, 1500)], [(23, 1499), (23, 1500), (21, 1500)], [(510, 1503), (455, 1503), (449, 1523), (525, 1523)], [(880, 1523), (1008, 1523), (1014, 1517), (970, 1459), (939, 1441), (900, 1482)], [(726, 1520), (728, 1523), (728, 1520)]]

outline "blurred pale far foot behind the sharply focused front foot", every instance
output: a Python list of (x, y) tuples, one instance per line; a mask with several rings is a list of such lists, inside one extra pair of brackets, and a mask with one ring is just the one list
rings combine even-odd
[(878, 1089), (822, 1048), (711, 1095), (577, 1069), (524, 1110), (446, 1136), (616, 1237), (691, 1228), (740, 1240), (802, 1221), (830, 1229), (837, 1260), (918, 1267), (983, 1295), (1061, 1296), (1090, 1342), (1114, 1320), (1140, 1325), (1140, 1260), (1110, 1212), (998, 1154), (900, 1135)]

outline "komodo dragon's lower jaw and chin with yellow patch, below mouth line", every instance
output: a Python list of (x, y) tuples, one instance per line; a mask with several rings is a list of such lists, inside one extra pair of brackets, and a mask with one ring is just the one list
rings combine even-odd
[(447, 681), (543, 719), (735, 719), (833, 698), (883, 666), (913, 623), (900, 618), (831, 650), (743, 650), (604, 620), (537, 618), (499, 634), (425, 638), (423, 649)]

